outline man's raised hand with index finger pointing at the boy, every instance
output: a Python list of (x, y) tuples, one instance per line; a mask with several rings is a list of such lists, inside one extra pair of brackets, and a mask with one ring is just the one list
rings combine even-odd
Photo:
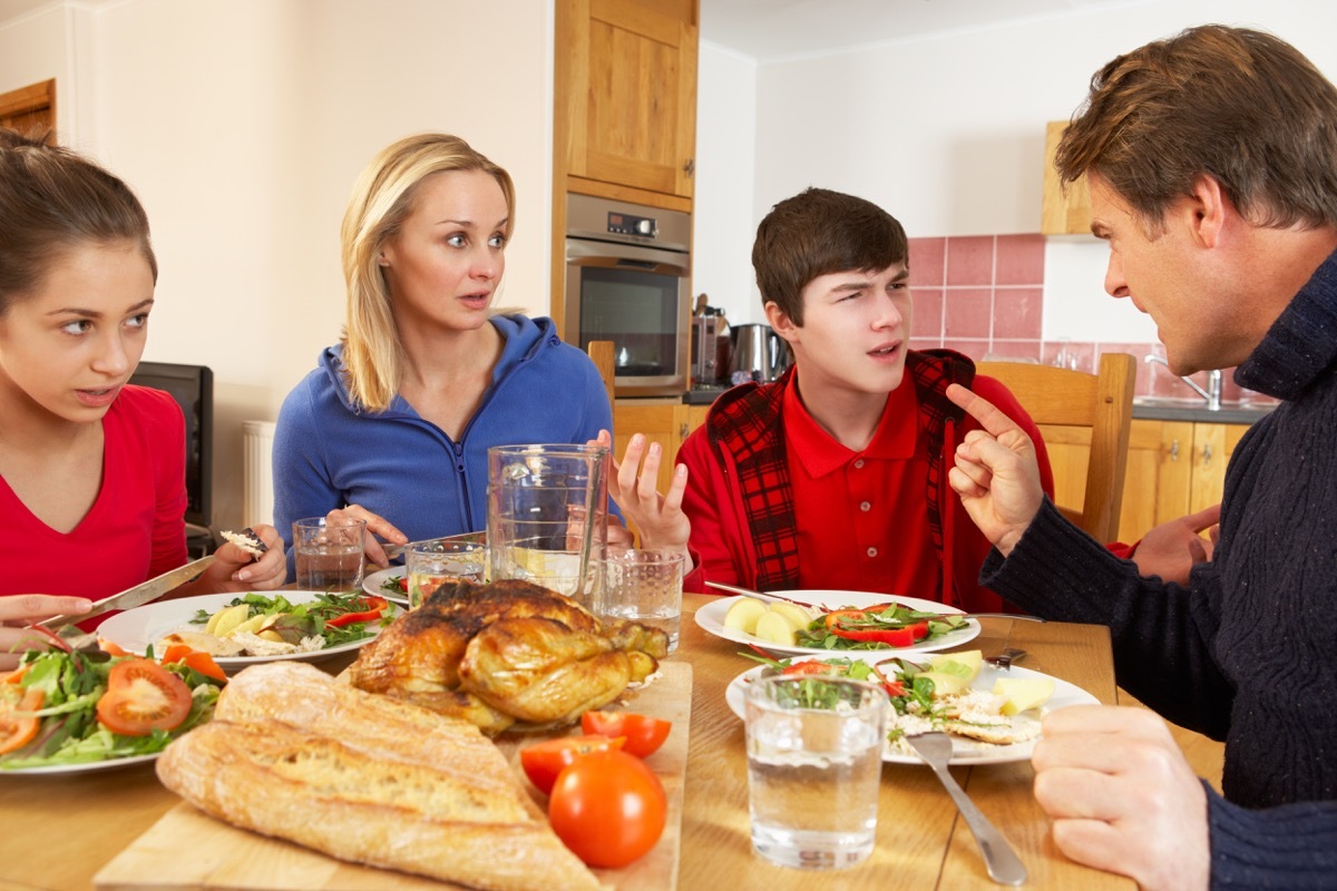
[(988, 399), (953, 383), (947, 398), (980, 422), (956, 448), (948, 482), (965, 512), (1005, 557), (1044, 501), (1031, 438)]

